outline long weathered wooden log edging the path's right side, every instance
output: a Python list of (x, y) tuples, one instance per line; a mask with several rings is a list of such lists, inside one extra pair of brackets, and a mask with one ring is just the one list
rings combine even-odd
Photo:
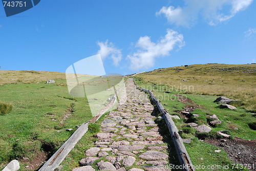
[(138, 85), (136, 84), (136, 82), (135, 82), (135, 85), (136, 85), (137, 89), (144, 91), (150, 95), (151, 100), (153, 101), (153, 103), (156, 104), (157, 109), (162, 114), (162, 116), (166, 122), (166, 125), (168, 126), (170, 135), (173, 139), (180, 164), (182, 165), (182, 170), (195, 171), (195, 168), (188, 156), (188, 153), (183, 144), (182, 138), (180, 137), (180, 135), (178, 133), (178, 129), (177, 129), (172, 117), (170, 117), (169, 113), (164, 109), (162, 103), (157, 100), (157, 98), (154, 96), (154, 94), (150, 90), (139, 88)]

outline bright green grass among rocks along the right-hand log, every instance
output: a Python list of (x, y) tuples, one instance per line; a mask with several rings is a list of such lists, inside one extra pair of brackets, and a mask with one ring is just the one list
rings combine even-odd
[[(151, 78), (150, 78), (151, 79)], [(193, 127), (186, 127), (184, 121), (185, 119), (173, 119), (178, 130), (183, 130), (182, 138), (193, 138), (191, 144), (185, 144), (189, 157), (194, 165), (204, 165), (204, 166), (212, 166), (212, 165), (220, 165), (221, 168), (215, 169), (196, 169), (196, 170), (248, 170), (246, 168), (236, 169), (232, 168), (233, 162), (228, 159), (227, 154), (222, 150), (220, 153), (216, 153), (215, 150), (219, 149), (218, 147), (211, 145), (209, 143), (202, 142), (198, 140), (197, 137), (201, 139), (210, 139), (210, 138), (221, 138), (220, 135), (217, 134), (219, 130), (225, 130), (225, 133), (230, 134), (231, 138), (234, 136), (238, 136), (244, 139), (255, 139), (256, 131), (250, 128), (250, 124), (252, 124), (252, 120), (255, 121), (255, 116), (248, 112), (243, 106), (237, 106), (237, 110), (228, 110), (228, 109), (220, 109), (218, 107), (218, 103), (215, 103), (214, 100), (218, 96), (213, 95), (198, 95), (198, 94), (184, 94), (185, 92), (179, 90), (170, 85), (158, 84), (157, 79), (156, 82), (148, 82), (146, 78), (135, 77), (135, 81), (139, 87), (144, 89), (151, 90), (153, 94), (158, 98), (162, 104), (164, 104), (164, 108), (169, 112), (170, 115), (178, 115), (177, 111), (183, 111), (185, 105), (177, 98), (176, 94), (183, 95), (194, 101), (194, 105), (197, 105), (192, 114), (199, 114), (199, 117), (191, 117), (190, 119), (198, 124), (207, 124), (209, 121), (210, 115), (216, 114), (220, 120), (223, 121), (222, 124), (216, 127), (212, 127), (212, 131), (209, 133), (197, 133)], [(166, 93), (169, 92), (169, 93)], [(180, 116), (181, 117), (181, 116)], [(249, 125), (248, 125), (249, 124)], [(238, 130), (234, 129), (235, 127)], [(229, 166), (229, 169), (224, 169), (223, 166)]]

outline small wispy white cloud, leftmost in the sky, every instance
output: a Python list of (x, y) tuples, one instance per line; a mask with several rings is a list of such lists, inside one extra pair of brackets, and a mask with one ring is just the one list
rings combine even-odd
[(106, 40), (105, 42), (99, 41), (97, 44), (100, 48), (98, 53), (100, 54), (102, 60), (107, 57), (111, 57), (114, 65), (118, 66), (122, 59), (121, 50), (117, 49), (112, 42), (109, 42), (109, 40)]

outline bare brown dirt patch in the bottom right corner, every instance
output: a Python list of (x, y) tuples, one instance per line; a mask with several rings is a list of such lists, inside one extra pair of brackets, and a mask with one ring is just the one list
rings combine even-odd
[(221, 147), (230, 160), (244, 166), (249, 164), (252, 167), (250, 170), (256, 171), (256, 140), (244, 140), (236, 137), (234, 139), (226, 139), (226, 142), (212, 139), (204, 140), (204, 142)]

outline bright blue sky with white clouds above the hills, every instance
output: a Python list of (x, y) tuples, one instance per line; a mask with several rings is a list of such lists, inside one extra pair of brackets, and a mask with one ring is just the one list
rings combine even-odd
[[(197, 63), (256, 62), (253, 0), (44, 0), (6, 17), (1, 70), (65, 72), (100, 53), (123, 75)], [(95, 66), (97, 69), (97, 66)]]

